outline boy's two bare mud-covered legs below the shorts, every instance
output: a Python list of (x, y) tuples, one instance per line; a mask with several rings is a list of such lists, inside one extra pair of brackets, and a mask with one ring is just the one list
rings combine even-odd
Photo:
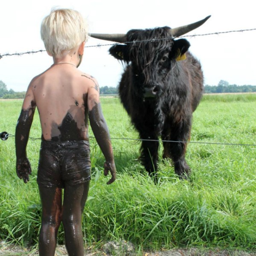
[(67, 186), (63, 205), (61, 205), (61, 189), (39, 186), (43, 208), (39, 237), (40, 255), (54, 254), (61, 221), (65, 230), (65, 245), (69, 255), (84, 255), (81, 220), (89, 183), (90, 181), (87, 181), (77, 186)]

